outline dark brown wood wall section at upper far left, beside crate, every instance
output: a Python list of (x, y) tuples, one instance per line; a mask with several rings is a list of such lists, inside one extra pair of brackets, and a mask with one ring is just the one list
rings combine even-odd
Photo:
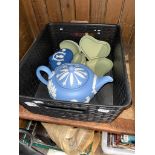
[(33, 42), (34, 36), (26, 17), (23, 1), (19, 2), (19, 59), (21, 59)]

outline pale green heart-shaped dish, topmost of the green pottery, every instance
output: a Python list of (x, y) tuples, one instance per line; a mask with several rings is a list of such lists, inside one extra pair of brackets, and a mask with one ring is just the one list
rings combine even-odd
[(107, 57), (111, 50), (108, 42), (97, 40), (88, 34), (80, 39), (79, 45), (88, 60)]

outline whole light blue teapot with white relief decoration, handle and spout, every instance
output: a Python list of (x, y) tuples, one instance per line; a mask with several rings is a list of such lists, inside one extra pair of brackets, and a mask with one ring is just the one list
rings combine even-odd
[[(48, 81), (41, 75), (47, 73)], [(83, 64), (65, 63), (51, 71), (46, 66), (36, 70), (38, 79), (47, 85), (51, 98), (55, 100), (88, 103), (97, 91), (106, 83), (112, 82), (110, 76), (97, 77)]]

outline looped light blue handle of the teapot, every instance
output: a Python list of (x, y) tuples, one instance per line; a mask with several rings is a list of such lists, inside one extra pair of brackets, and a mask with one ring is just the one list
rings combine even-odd
[(46, 66), (39, 66), (39, 67), (37, 68), (37, 70), (36, 70), (36, 75), (37, 75), (38, 79), (39, 79), (43, 84), (47, 85), (47, 84), (48, 84), (48, 81), (41, 75), (40, 71), (45, 72), (45, 73), (48, 75), (48, 77), (52, 74), (52, 72), (51, 72), (51, 70), (50, 70), (48, 67), (46, 67)]

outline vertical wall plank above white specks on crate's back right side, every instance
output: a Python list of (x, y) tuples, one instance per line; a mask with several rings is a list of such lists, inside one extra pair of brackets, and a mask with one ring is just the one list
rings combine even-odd
[(91, 0), (91, 23), (104, 23), (107, 0)]

